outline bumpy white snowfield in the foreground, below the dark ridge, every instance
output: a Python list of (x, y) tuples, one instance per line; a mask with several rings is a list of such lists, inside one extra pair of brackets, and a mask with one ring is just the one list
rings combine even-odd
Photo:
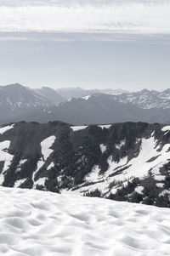
[(0, 255), (162, 256), (170, 209), (0, 187)]

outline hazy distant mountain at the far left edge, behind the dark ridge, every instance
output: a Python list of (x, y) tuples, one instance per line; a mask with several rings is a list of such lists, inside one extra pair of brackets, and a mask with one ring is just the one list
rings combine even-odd
[(57, 105), (63, 100), (50, 88), (34, 90), (19, 83), (0, 86), (0, 123), (25, 120), (34, 111)]

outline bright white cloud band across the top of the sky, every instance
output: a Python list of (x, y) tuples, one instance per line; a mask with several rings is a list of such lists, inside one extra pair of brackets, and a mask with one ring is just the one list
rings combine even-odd
[(0, 0), (1, 32), (170, 34), (170, 1)]

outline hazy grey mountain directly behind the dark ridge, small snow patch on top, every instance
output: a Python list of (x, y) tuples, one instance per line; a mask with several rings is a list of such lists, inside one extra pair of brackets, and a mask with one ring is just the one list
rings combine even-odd
[(82, 98), (72, 98), (57, 106), (36, 112), (34, 117), (26, 116), (26, 120), (37, 122), (61, 120), (75, 125), (127, 121), (170, 123), (170, 109), (144, 109), (133, 102), (121, 102), (122, 95), (89, 94)]

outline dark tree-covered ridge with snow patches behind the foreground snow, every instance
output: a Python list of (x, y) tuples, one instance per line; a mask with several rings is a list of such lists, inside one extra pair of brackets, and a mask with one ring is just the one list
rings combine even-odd
[(169, 207), (169, 149), (158, 123), (18, 122), (0, 128), (0, 185)]

